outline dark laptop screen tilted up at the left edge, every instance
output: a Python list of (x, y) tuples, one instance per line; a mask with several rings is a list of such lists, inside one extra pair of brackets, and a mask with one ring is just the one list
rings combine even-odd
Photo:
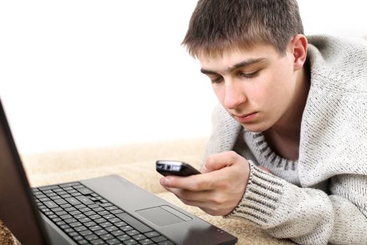
[(47, 243), (1, 101), (0, 220), (23, 245)]

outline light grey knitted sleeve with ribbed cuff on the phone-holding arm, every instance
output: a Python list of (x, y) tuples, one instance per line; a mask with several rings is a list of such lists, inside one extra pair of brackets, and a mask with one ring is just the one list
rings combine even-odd
[(366, 205), (367, 176), (335, 176), (326, 195), (250, 166), (245, 195), (229, 216), (247, 218), (274, 237), (298, 244), (367, 244), (363, 201), (354, 203), (364, 199)]

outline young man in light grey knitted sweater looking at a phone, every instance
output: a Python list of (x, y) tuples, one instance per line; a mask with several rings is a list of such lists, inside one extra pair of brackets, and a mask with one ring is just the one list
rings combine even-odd
[(367, 244), (367, 43), (303, 35), (296, 0), (201, 0), (183, 44), (221, 106), (202, 173), (161, 184), (298, 244)]

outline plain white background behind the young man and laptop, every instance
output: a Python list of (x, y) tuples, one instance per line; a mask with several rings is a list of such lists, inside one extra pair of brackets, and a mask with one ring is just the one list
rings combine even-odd
[[(364, 1), (298, 1), (306, 34), (367, 34)], [(196, 0), (1, 1), (0, 97), (21, 153), (207, 137), (180, 46)]]

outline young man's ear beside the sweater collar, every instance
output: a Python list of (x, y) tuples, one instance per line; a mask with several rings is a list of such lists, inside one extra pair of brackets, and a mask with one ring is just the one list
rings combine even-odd
[(297, 34), (291, 40), (291, 52), (294, 57), (294, 71), (299, 70), (305, 64), (307, 57), (307, 38), (303, 34)]

